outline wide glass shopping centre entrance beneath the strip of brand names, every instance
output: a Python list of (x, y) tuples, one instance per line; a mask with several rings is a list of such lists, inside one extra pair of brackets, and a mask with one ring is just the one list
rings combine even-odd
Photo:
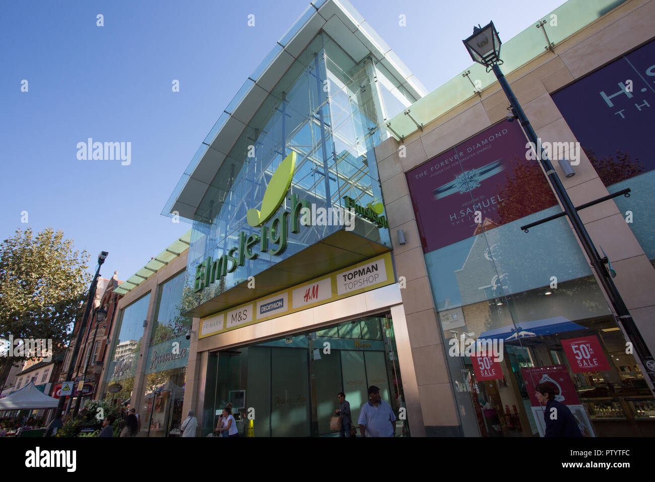
[(242, 436), (251, 426), (255, 437), (337, 436), (329, 430), (337, 393), (346, 394), (356, 426), (371, 385), (394, 409), (396, 435), (409, 436), (407, 420), (399, 416), (403, 393), (390, 313), (215, 351), (201, 435), (212, 432), (221, 409), (232, 403)]

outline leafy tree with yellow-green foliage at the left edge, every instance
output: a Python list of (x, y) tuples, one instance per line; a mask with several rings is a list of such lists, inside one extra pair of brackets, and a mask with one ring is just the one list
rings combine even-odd
[[(51, 338), (53, 356), (84, 313), (91, 275), (86, 251), (75, 251), (62, 230), (36, 235), (28, 226), (0, 244), (0, 338)], [(22, 361), (21, 359), (20, 361)], [(0, 357), (3, 383), (14, 357)]]

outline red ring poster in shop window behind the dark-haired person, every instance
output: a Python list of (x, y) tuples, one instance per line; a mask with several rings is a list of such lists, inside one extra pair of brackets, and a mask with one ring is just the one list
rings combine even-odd
[(546, 411), (546, 407), (541, 405), (534, 396), (534, 388), (543, 382), (552, 382), (555, 384), (557, 387), (557, 390), (555, 391), (555, 401), (559, 401), (559, 403), (563, 403), (563, 405), (569, 407), (569, 410), (578, 421), (578, 428), (580, 428), (582, 435), (595, 437), (595, 433), (591, 427), (591, 422), (589, 422), (589, 416), (584, 410), (582, 403), (580, 403), (578, 394), (576, 393), (573, 382), (571, 381), (571, 375), (569, 375), (569, 369), (567, 369), (566, 365), (522, 368), (521, 375), (523, 376), (525, 389), (530, 397), (534, 421), (536, 422), (541, 437), (546, 433), (546, 422), (544, 422), (544, 412)]

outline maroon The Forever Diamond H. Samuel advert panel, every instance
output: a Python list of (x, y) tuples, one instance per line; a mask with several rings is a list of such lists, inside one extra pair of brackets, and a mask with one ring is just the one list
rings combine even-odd
[(518, 123), (503, 121), (407, 172), (424, 252), (557, 203)]

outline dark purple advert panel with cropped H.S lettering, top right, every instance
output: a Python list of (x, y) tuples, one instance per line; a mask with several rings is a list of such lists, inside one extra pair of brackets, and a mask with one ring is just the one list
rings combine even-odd
[(605, 186), (655, 169), (655, 41), (552, 98)]

